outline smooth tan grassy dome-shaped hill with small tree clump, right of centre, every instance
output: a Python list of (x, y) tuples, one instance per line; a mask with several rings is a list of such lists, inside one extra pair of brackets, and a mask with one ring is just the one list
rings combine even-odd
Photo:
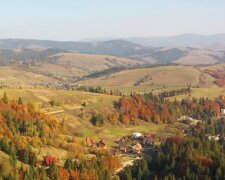
[[(135, 86), (145, 76), (149, 79)], [(203, 77), (202, 77), (203, 76)], [(81, 82), (85, 86), (102, 86), (106, 89), (119, 89), (125, 94), (130, 92), (159, 91), (186, 87), (188, 84), (198, 86), (200, 78), (204, 79), (201, 87), (213, 87), (214, 78), (192, 66), (164, 66), (155, 68), (126, 70), (109, 76)]]

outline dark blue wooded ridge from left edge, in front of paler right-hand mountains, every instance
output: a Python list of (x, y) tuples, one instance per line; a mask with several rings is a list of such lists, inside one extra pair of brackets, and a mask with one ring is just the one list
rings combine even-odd
[(0, 49), (13, 50), (30, 47), (55, 48), (63, 51), (72, 51), (86, 54), (104, 54), (120, 57), (129, 57), (135, 60), (146, 61), (150, 59), (159, 63), (168, 63), (185, 55), (185, 51), (178, 48), (161, 50), (139, 45), (126, 40), (109, 40), (103, 42), (59, 42), (49, 40), (5, 39), (0, 40)]

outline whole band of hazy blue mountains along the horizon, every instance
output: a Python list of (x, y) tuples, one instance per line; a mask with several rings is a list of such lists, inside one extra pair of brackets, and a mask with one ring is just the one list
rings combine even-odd
[[(137, 37), (100, 42), (2, 39), (0, 40), (0, 55), (2, 50), (33, 49), (35, 47), (56, 49), (55, 52), (67, 51), (128, 57), (151, 64), (178, 63), (190, 65), (225, 61), (225, 34)], [(17, 56), (15, 53), (13, 54), (14, 57)], [(5, 54), (7, 57), (12, 56), (11, 54)]]

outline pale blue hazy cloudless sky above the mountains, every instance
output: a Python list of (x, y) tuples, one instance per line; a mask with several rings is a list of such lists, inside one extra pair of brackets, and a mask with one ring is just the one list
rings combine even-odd
[(90, 38), (225, 33), (225, 0), (7, 0), (0, 38)]

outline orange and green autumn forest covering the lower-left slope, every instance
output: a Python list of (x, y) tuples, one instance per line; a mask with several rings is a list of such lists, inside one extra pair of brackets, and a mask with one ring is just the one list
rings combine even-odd
[[(117, 156), (105, 149), (87, 148), (77, 142), (63, 123), (38, 112), (34, 103), (24, 104), (22, 98), (0, 99), (0, 150), (7, 159), (0, 160), (3, 179), (110, 179), (121, 166)], [(45, 146), (65, 149), (71, 156), (63, 167), (55, 161), (48, 165), (34, 149)], [(84, 154), (93, 158), (84, 158)], [(53, 154), (54, 156), (54, 154)]]

